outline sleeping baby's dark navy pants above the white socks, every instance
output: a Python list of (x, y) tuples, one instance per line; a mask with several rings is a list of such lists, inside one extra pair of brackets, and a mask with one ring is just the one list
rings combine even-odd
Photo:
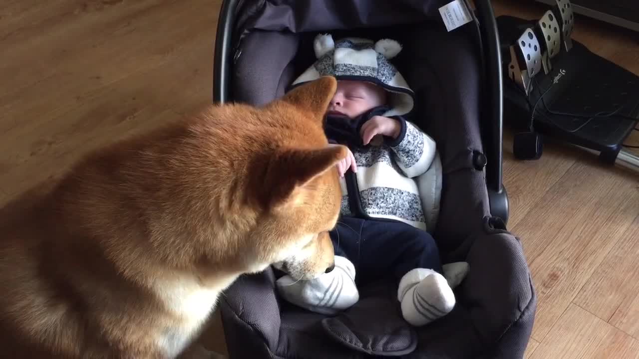
[(355, 266), (355, 282), (366, 284), (392, 275), (399, 280), (413, 268), (442, 273), (439, 250), (426, 231), (394, 220), (341, 217), (330, 232), (336, 256)]

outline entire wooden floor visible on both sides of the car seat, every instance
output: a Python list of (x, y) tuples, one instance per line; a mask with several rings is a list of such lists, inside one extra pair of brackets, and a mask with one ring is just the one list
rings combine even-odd
[[(210, 102), (219, 3), (2, 1), (0, 204), (89, 149)], [(498, 15), (544, 10), (493, 3)], [(636, 33), (577, 17), (574, 38), (639, 75)], [(539, 296), (527, 357), (639, 358), (639, 175), (560, 144), (518, 162), (505, 137), (509, 229)], [(224, 351), (213, 322), (204, 340)]]

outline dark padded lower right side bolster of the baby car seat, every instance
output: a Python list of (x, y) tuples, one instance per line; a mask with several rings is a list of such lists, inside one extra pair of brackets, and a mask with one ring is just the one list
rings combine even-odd
[[(530, 337), (536, 305), (520, 241), (506, 231), (478, 233), (460, 250), (467, 253), (470, 270), (455, 289), (456, 307), (417, 331), (414, 353), (429, 358), (519, 357)], [(492, 356), (495, 353), (501, 355)]]

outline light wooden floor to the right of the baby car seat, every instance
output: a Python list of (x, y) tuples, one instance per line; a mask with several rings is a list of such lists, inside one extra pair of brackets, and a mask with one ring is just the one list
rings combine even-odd
[[(539, 19), (545, 6), (493, 1), (497, 15)], [(576, 17), (573, 38), (639, 75), (639, 36)], [(509, 229), (521, 236), (537, 296), (527, 357), (639, 358), (639, 173), (550, 145), (535, 162), (504, 144)], [(635, 131), (627, 144), (639, 144)]]

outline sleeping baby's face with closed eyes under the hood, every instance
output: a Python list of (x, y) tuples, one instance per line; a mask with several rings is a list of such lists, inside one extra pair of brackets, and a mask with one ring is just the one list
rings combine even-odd
[(328, 114), (356, 118), (360, 114), (386, 103), (386, 91), (366, 81), (340, 80), (330, 100)]

